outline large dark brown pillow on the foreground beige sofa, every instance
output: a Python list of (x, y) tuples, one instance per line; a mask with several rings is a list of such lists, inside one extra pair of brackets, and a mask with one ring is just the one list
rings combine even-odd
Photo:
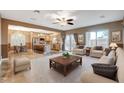
[(117, 66), (110, 64), (92, 64), (94, 73), (116, 80)]

